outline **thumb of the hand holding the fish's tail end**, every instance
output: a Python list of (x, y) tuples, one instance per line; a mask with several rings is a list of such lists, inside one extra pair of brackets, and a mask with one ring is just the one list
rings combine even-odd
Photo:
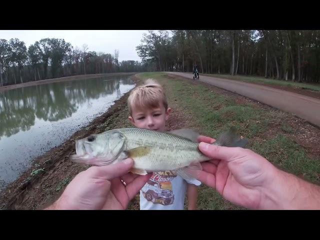
[(206, 142), (200, 142), (198, 148), (204, 155), (224, 161), (231, 161), (234, 154), (241, 153), (238, 147), (211, 145)]

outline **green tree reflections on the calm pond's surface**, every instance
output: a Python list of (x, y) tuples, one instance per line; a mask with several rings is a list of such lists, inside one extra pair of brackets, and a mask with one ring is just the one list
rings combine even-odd
[[(119, 82), (119, 80), (121, 82)], [(129, 78), (93, 78), (16, 88), (0, 92), (0, 139), (34, 125), (35, 117), (57, 121), (70, 117), (87, 99), (97, 99), (116, 92)]]

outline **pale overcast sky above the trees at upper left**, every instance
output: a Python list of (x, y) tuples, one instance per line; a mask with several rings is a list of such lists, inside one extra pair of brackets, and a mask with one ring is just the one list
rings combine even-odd
[(119, 61), (140, 61), (135, 47), (141, 43), (144, 32), (147, 30), (0, 30), (0, 39), (16, 37), (28, 47), (41, 38), (63, 38), (80, 49), (86, 43), (88, 51), (114, 54), (114, 50), (118, 49)]

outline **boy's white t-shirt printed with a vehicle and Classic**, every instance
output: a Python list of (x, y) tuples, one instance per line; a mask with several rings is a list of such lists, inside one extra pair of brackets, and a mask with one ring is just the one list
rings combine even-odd
[(140, 190), (140, 210), (183, 210), (187, 183), (201, 184), (196, 179), (186, 181), (175, 171), (153, 172)]

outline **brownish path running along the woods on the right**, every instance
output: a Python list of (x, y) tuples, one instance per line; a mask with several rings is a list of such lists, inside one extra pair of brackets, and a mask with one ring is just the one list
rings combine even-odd
[[(167, 72), (192, 79), (191, 73)], [(264, 85), (201, 75), (199, 80), (293, 113), (320, 127), (320, 99)]]

